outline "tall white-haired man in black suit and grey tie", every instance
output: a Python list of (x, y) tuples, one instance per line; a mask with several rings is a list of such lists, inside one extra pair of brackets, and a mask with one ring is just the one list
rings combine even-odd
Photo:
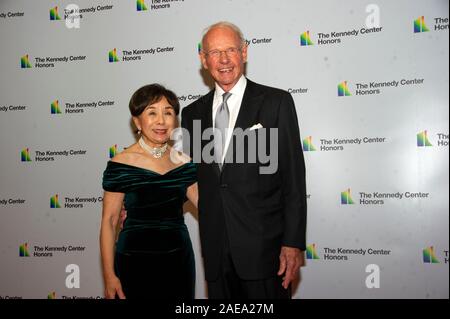
[[(199, 162), (209, 298), (290, 298), (306, 248), (305, 164), (294, 101), (285, 91), (245, 78), (247, 46), (231, 23), (206, 30), (200, 59), (215, 90), (183, 109), (182, 127), (190, 133), (184, 143), (194, 148), (188, 153)], [(198, 128), (223, 134), (203, 136), (200, 143)], [(261, 156), (255, 160), (251, 153), (267, 154), (267, 144), (275, 153), (269, 163)], [(205, 149), (213, 150), (213, 161)]]

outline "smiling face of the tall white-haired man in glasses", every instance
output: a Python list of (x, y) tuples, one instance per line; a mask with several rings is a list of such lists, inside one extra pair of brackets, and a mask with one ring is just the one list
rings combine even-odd
[(217, 84), (228, 92), (244, 73), (247, 46), (232, 29), (217, 27), (206, 34), (200, 59)]

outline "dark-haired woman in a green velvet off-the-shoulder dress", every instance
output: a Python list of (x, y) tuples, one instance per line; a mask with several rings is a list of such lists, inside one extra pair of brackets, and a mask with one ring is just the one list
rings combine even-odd
[[(183, 204), (189, 199), (197, 206), (197, 172), (168, 145), (178, 126), (178, 99), (151, 84), (133, 94), (129, 108), (139, 141), (112, 158), (103, 173), (105, 297), (193, 299), (195, 260)], [(116, 242), (122, 203), (127, 216)]]

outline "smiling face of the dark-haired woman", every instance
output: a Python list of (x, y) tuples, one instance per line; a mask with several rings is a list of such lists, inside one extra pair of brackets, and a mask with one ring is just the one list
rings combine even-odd
[(160, 101), (148, 105), (139, 116), (133, 117), (133, 121), (144, 141), (149, 146), (159, 147), (170, 139), (177, 125), (177, 115), (163, 96)]

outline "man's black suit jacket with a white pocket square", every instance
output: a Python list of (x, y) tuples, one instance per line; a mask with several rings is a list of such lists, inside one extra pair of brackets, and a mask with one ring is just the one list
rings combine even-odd
[[(189, 155), (194, 160), (200, 154), (198, 148), (196, 154), (193, 152), (193, 146), (200, 145), (201, 139), (194, 127), (201, 125), (203, 131), (213, 126), (213, 98), (214, 90), (182, 111), (182, 127), (190, 133), (189, 138), (184, 136), (183, 143), (184, 146), (190, 143)], [(218, 164), (206, 163), (204, 159), (198, 163), (199, 229), (208, 281), (216, 280), (219, 275), (224, 229), (233, 263), (243, 280), (273, 277), (278, 271), (281, 246), (306, 248), (305, 164), (292, 96), (247, 80), (235, 129), (246, 130), (255, 124), (261, 124), (266, 130), (278, 129), (275, 140), (278, 152), (272, 154), (278, 157), (274, 174), (260, 173), (260, 168), (268, 164), (258, 160), (258, 156), (256, 162), (249, 160), (251, 156), (246, 156), (244, 163), (242, 159), (241, 163), (228, 160), (222, 170)], [(264, 137), (260, 130), (252, 132), (258, 143), (261, 139), (270, 141), (270, 134), (267, 132)], [(212, 141), (212, 137), (202, 140), (201, 150)], [(234, 147), (229, 147), (227, 156), (231, 149), (238, 147), (246, 151), (255, 149), (249, 143), (251, 139), (236, 141)]]

